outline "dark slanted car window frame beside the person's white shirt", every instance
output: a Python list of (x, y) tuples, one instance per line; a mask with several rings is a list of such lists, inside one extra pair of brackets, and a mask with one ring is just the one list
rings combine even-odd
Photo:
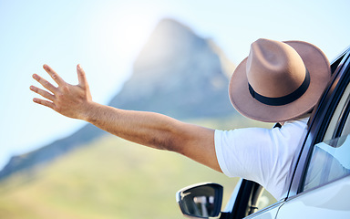
[[(308, 130), (301, 152), (295, 161), (295, 169), (291, 173), (292, 183), (289, 187), (287, 199), (299, 196), (304, 192), (304, 176), (314, 150), (314, 145), (323, 140), (325, 130), (332, 119), (337, 103), (350, 82), (350, 47), (335, 58), (331, 70), (333, 76), (322, 98), (315, 106), (315, 110), (308, 122)], [(313, 190), (313, 189), (312, 189)], [(311, 190), (309, 190), (311, 191)]]

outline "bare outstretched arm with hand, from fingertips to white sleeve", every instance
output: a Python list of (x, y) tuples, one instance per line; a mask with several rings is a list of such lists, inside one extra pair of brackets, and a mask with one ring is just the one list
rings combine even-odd
[(86, 120), (102, 130), (128, 141), (152, 148), (179, 152), (221, 172), (214, 147), (214, 130), (174, 120), (165, 115), (132, 110), (119, 110), (91, 99), (84, 70), (77, 65), (77, 85), (70, 85), (47, 65), (46, 72), (57, 87), (34, 74), (45, 89), (30, 89), (45, 99), (33, 99), (69, 118)]

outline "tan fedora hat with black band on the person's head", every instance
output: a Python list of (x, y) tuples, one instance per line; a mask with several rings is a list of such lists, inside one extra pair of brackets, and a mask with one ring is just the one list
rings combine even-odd
[(253, 120), (293, 120), (312, 110), (331, 77), (324, 53), (303, 41), (258, 39), (234, 70), (233, 107)]

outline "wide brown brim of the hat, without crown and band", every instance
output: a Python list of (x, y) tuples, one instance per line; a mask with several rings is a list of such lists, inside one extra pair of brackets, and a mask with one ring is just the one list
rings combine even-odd
[(331, 77), (330, 64), (324, 53), (314, 45), (303, 41), (285, 41), (302, 57), (310, 73), (310, 85), (304, 95), (283, 106), (269, 106), (252, 98), (246, 75), (247, 57), (234, 70), (229, 87), (233, 107), (243, 116), (265, 122), (293, 120), (312, 110), (321, 97)]

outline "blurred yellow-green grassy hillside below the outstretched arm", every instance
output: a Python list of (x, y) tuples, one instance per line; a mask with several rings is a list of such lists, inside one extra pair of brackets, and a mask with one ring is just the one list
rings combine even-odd
[[(225, 129), (229, 121), (197, 123)], [(46, 166), (0, 182), (0, 218), (183, 218), (175, 202), (180, 188), (221, 183), (227, 199), (236, 180), (176, 153), (107, 135)]]

